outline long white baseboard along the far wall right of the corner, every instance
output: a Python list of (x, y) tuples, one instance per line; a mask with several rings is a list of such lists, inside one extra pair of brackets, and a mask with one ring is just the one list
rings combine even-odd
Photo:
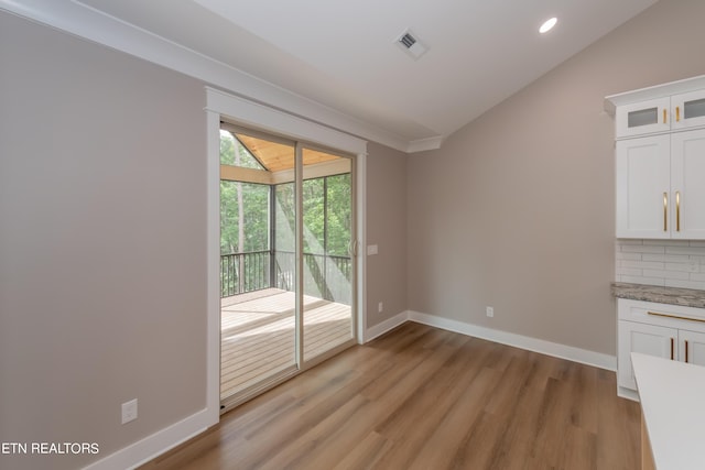
[(600, 352), (588, 351), (586, 349), (574, 348), (572, 346), (560, 345), (557, 342), (545, 341), (543, 339), (480, 327), (473, 324), (437, 317), (435, 315), (422, 314), (420, 311), (408, 311), (408, 314), (411, 321), (419, 324), (459, 332), (475, 338), (487, 339), (489, 341), (540, 352), (555, 358), (567, 359), (573, 362), (579, 362), (599, 369), (606, 369), (609, 371), (617, 370), (617, 358), (615, 356), (603, 354)]

